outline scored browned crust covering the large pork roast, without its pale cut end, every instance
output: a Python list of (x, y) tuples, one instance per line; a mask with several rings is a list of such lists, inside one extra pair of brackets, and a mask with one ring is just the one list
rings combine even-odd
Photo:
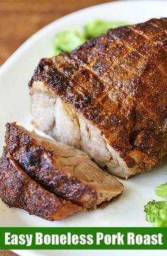
[(110, 29), (42, 59), (29, 85), (44, 82), (105, 134), (132, 173), (148, 171), (167, 151), (166, 35), (167, 18)]

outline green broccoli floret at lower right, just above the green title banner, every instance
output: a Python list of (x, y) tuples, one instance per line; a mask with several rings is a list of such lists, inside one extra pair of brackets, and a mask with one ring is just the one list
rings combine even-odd
[(167, 201), (150, 201), (144, 206), (146, 220), (155, 227), (167, 228)]

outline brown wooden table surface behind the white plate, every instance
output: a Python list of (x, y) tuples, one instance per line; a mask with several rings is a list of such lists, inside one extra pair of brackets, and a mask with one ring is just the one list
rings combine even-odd
[[(73, 11), (111, 0), (0, 0), (0, 65), (33, 33)], [(15, 255), (0, 250), (2, 256)]]

